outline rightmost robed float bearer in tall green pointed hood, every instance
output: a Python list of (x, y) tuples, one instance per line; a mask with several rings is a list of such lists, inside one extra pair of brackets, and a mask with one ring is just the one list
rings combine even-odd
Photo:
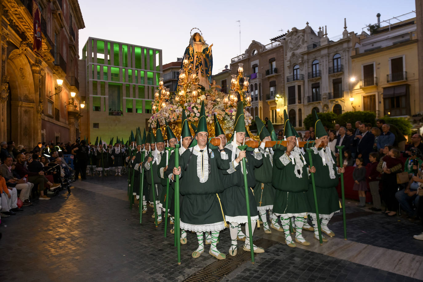
[[(311, 154), (311, 157), (313, 159), (313, 165), (316, 167), (317, 171), (317, 173), (314, 175), (314, 182), (316, 186), (319, 216), (321, 219), (320, 226), (321, 231), (330, 237), (333, 237), (335, 234), (329, 229), (329, 227), (327, 227), (327, 224), (329, 223), (333, 214), (338, 212), (340, 209), (336, 186), (338, 186), (341, 172), (344, 172), (345, 169), (343, 167), (337, 167), (336, 157), (328, 146), (329, 137), (315, 110), (313, 110), (313, 118), (315, 124), (314, 132), (316, 133), (316, 145), (312, 147), (313, 153)], [(323, 148), (319, 148), (321, 143), (324, 144)], [(306, 154), (306, 158), (308, 158), (308, 154)], [(311, 206), (309, 215), (314, 227), (314, 238), (319, 240), (316, 206), (314, 204), (314, 194), (311, 185), (312, 184), (310, 181), (310, 187), (307, 192), (308, 201)], [(324, 242), (327, 242), (326, 238), (323, 237), (322, 239)]]

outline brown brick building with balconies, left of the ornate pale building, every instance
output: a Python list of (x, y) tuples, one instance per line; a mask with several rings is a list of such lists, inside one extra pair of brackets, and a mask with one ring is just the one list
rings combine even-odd
[(253, 40), (244, 54), (231, 59), (231, 74), (236, 74), (238, 64), (243, 63), (244, 76), (250, 77), (251, 115), (269, 118), (272, 123), (282, 123), (277, 115), (277, 95), (283, 96), (285, 89), (284, 37), (271, 38), (267, 45)]

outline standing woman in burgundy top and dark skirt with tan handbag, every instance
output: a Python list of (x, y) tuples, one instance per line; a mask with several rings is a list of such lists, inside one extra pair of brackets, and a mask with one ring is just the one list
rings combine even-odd
[(401, 162), (400, 152), (391, 149), (387, 156), (384, 156), (377, 165), (377, 171), (382, 174), (382, 200), (386, 204), (385, 214), (387, 216), (396, 215), (398, 201), (395, 193), (398, 190), (397, 173), (404, 170), (404, 164)]

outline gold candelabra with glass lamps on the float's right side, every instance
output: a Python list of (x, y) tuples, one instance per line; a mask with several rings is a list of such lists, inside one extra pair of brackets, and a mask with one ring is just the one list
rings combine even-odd
[[(231, 105), (232, 107), (236, 107), (238, 102), (238, 94), (244, 103), (244, 107), (251, 107), (251, 93), (248, 91), (248, 85), (250, 84), (248, 80), (249, 77), (243, 77), (244, 75), (244, 68), (242, 67), (244, 64), (238, 64), (238, 74), (232, 74), (231, 79), (231, 93), (228, 96), (225, 96), (223, 102), (225, 105)], [(243, 82), (241, 80), (244, 80)]]

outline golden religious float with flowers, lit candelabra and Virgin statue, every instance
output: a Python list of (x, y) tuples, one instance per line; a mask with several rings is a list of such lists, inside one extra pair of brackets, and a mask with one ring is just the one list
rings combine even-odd
[[(192, 30), (198, 30), (192, 34)], [(211, 47), (203, 38), (198, 28), (191, 30), (190, 44), (185, 49), (184, 57), (179, 70), (178, 87), (174, 93), (163, 85), (163, 78), (159, 79), (159, 89), (154, 93), (152, 104), (153, 115), (148, 120), (153, 131), (156, 131), (156, 120), (162, 126), (162, 133), (165, 135), (165, 120), (173, 132), (178, 136), (181, 133), (181, 113), (185, 109), (189, 123), (195, 126), (200, 116), (201, 102), (206, 106), (207, 127), (211, 137), (214, 137), (213, 116), (216, 114), (220, 120), (223, 131), (229, 138), (236, 115), (236, 104), (238, 100), (243, 101), (245, 125), (250, 136), (249, 125), (253, 117), (246, 110), (251, 106), (251, 93), (248, 91), (248, 79), (244, 77), (243, 64), (238, 66), (238, 74), (232, 74), (230, 93), (221, 92), (220, 86), (211, 79), (213, 68), (213, 56)], [(192, 130), (192, 128), (191, 128)], [(194, 134), (194, 131), (192, 130)], [(167, 136), (164, 136), (167, 138)]]

